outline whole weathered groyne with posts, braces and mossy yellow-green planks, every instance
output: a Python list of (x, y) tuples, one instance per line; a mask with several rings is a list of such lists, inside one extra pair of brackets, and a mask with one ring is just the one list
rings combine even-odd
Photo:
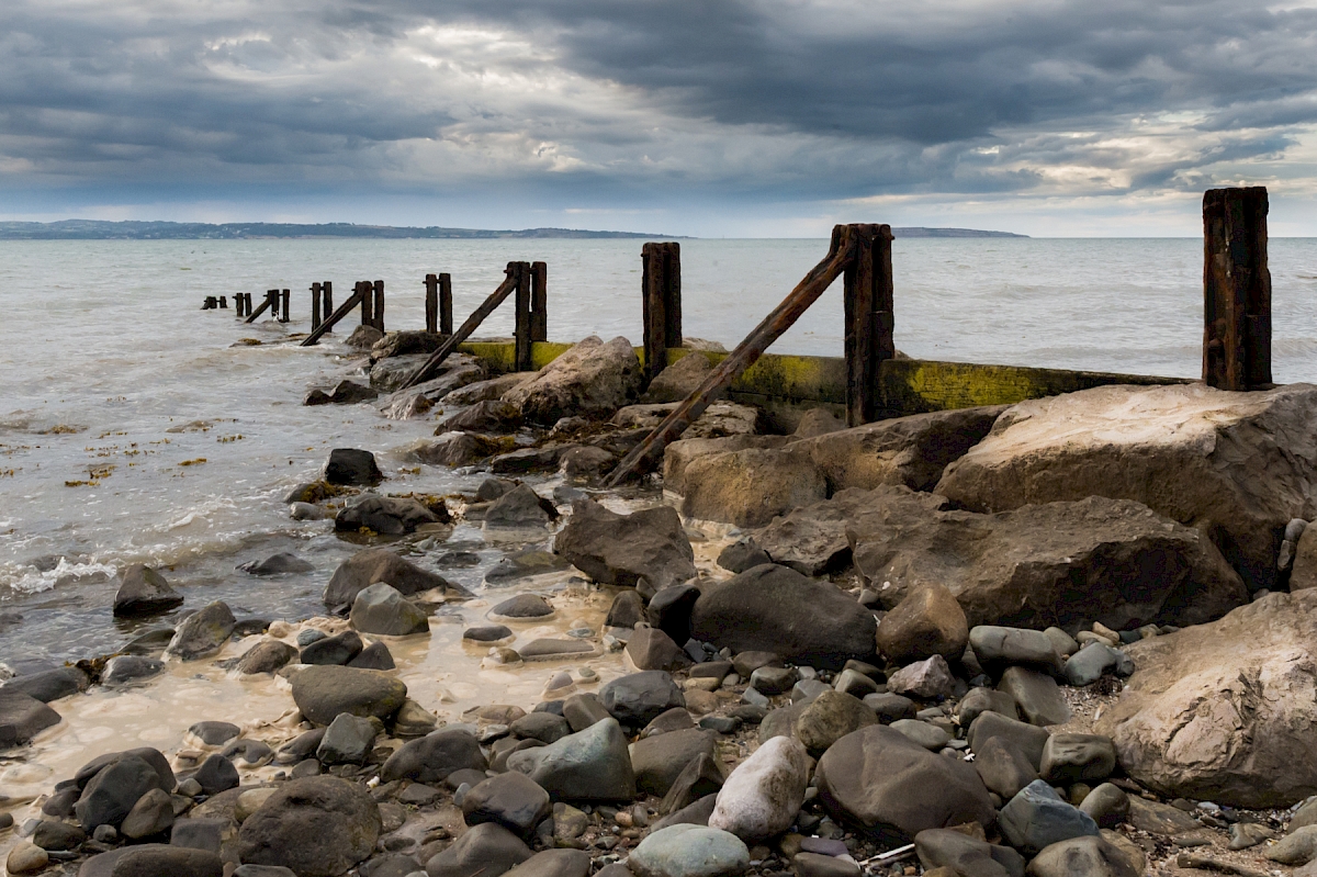
[[(1209, 190), (1202, 200), (1202, 381), (1222, 390), (1271, 387), (1267, 190)], [(823, 259), (731, 352), (684, 346), (680, 244), (644, 244), (644, 337), (636, 353), (647, 379), (685, 356), (703, 356), (714, 369), (699, 388), (622, 461), (612, 473), (611, 483), (619, 483), (641, 469), (645, 461), (660, 456), (662, 448), (681, 436), (709, 404), (724, 396), (759, 406), (784, 427), (789, 427), (801, 411), (818, 407), (844, 415), (847, 424), (853, 427), (928, 411), (1017, 403), (1104, 385), (1188, 382), (1155, 375), (902, 357), (893, 340), (892, 241), (889, 225), (835, 226)], [(425, 329), (446, 337), (406, 381), (406, 386), (428, 379), (456, 350), (477, 357), (491, 373), (502, 374), (541, 369), (569, 349), (572, 344), (548, 341), (547, 275), (544, 262), (508, 262), (504, 279), (454, 331), (452, 278), (449, 274), (428, 274), (424, 280)], [(838, 279), (843, 280), (843, 356), (766, 353)], [(482, 321), (510, 298), (516, 309), (514, 340), (471, 340)], [(275, 319), (287, 321), (287, 290), (270, 290), (254, 313), (250, 294), (238, 294), (237, 300), (238, 316), (245, 316), (249, 323), (266, 309)], [(312, 284), (312, 331), (302, 345), (315, 345), (335, 324), (358, 308), (362, 325), (385, 331), (383, 280), (358, 282), (352, 296), (337, 309), (332, 307), (332, 283)]]

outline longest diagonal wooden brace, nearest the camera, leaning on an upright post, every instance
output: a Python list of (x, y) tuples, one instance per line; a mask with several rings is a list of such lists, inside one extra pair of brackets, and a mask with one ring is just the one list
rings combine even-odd
[(674, 441), (686, 431), (690, 424), (699, 420), (699, 415), (710, 404), (722, 398), (736, 378), (745, 374), (755, 362), (764, 356), (764, 350), (773, 341), (777, 341), (784, 332), (805, 313), (811, 304), (818, 302), (823, 291), (835, 280), (853, 261), (856, 249), (856, 234), (853, 225), (836, 225), (832, 228), (832, 246), (822, 262), (810, 269), (810, 273), (801, 278), (795, 288), (788, 292), (782, 303), (764, 317), (755, 329), (745, 336), (745, 340), (736, 345), (736, 349), (709, 373), (705, 382), (686, 396), (686, 400), (677, 406), (676, 411), (668, 415), (661, 424), (655, 427), (643, 442), (628, 453), (618, 467), (608, 475), (607, 486), (616, 487), (626, 481), (636, 469), (651, 457), (662, 453), (669, 442)]

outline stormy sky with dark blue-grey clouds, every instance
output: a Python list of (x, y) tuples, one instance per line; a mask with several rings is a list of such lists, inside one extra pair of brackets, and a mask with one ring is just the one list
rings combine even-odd
[(0, 219), (1317, 234), (1317, 0), (4, 0)]

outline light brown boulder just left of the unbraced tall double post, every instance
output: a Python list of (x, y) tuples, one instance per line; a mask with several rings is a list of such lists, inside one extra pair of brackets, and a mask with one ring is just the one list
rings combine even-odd
[(540, 369), (533, 379), (503, 394), (522, 416), (545, 427), (562, 417), (606, 417), (640, 396), (640, 359), (631, 342), (583, 338)]

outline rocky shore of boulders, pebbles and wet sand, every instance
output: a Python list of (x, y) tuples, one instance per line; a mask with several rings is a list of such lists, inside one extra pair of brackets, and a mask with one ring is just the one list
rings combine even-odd
[[(630, 342), (587, 338), (398, 391), (440, 338), (373, 332), (350, 341), (367, 382), (306, 404), (433, 419), (407, 453), (478, 487), (394, 494), (370, 450), (335, 450), (286, 496), (360, 545), (324, 615), (215, 602), (113, 656), (9, 666), (0, 776), (40, 784), (25, 753), (75, 724), (87, 757), (0, 787), (7, 873), (1317, 873), (1317, 388), (853, 429), (719, 403), (618, 494), (599, 479), (703, 357), (644, 387)], [(520, 585), (445, 578), (454, 521), (503, 546), (486, 585)], [(182, 603), (121, 570), (116, 616)], [(471, 668), (464, 697), (445, 666)], [(116, 699), (184, 679), (186, 733), (95, 743)], [(208, 707), (221, 685), (263, 718)]]

